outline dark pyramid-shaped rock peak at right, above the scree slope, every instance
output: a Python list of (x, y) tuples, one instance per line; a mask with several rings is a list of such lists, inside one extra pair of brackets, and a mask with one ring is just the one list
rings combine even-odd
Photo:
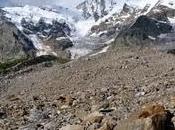
[(159, 22), (148, 16), (140, 16), (129, 28), (120, 32), (116, 42), (124, 44), (142, 44), (151, 42), (149, 37), (156, 38), (160, 34), (170, 33), (172, 26), (168, 23)]

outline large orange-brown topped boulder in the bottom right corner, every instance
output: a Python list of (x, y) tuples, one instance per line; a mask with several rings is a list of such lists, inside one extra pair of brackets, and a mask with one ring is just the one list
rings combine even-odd
[(119, 123), (114, 130), (174, 130), (172, 117), (164, 106), (148, 105), (134, 118)]

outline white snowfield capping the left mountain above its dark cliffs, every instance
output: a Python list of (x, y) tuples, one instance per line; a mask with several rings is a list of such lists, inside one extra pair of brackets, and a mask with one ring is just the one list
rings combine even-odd
[(42, 18), (46, 23), (51, 24), (53, 20), (58, 22), (66, 22), (70, 27), (73, 28), (71, 23), (74, 23), (75, 20), (70, 15), (65, 15), (63, 13), (54, 12), (54, 10), (42, 9), (35, 6), (24, 6), (24, 7), (5, 7), (3, 8), (6, 11), (6, 17), (9, 18), (13, 23), (17, 25), (18, 28), (21, 27), (21, 20), (25, 19), (26, 21), (31, 21), (34, 24), (37, 24)]

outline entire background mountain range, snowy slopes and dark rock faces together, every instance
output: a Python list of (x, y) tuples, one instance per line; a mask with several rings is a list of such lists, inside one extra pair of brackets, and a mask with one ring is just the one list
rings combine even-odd
[[(115, 39), (115, 43), (121, 44), (172, 44), (174, 3), (172, 0), (85, 0), (77, 5), (77, 10), (61, 6), (4, 7), (0, 28), (6, 35), (0, 34), (1, 60), (22, 53), (32, 57), (70, 58), (67, 49), (74, 46), (76, 41), (72, 39), (80, 37), (77, 34), (84, 30), (86, 37)], [(8, 37), (16, 41), (12, 46), (19, 44), (20, 48), (15, 51), (9, 48), (11, 40), (5, 40)]]

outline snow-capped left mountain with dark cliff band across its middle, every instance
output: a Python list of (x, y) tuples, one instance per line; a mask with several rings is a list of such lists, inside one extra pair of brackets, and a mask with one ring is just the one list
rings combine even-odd
[[(5, 7), (4, 16), (29, 38), (38, 50), (36, 56), (60, 55), (60, 50), (73, 46), (70, 36), (75, 31), (77, 15), (68, 15), (64, 8), (35, 6)], [(64, 12), (64, 13), (62, 13)], [(67, 15), (66, 15), (67, 14)], [(77, 16), (77, 17), (76, 17)]]

